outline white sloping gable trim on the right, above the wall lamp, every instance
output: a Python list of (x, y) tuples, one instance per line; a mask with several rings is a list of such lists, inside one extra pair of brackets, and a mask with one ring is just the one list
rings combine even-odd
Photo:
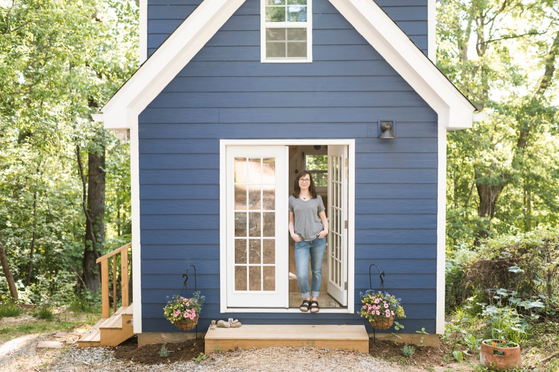
[(471, 128), (475, 107), (375, 2), (329, 1), (438, 113), (439, 125)]

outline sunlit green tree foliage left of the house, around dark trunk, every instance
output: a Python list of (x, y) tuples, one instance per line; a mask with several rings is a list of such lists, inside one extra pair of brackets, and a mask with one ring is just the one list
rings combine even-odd
[[(75, 284), (81, 275), (86, 221), (75, 150), (87, 158), (106, 147), (119, 174), (108, 182), (127, 177), (127, 146), (111, 135), (100, 142), (91, 114), (137, 68), (137, 44), (134, 1), (0, 0), (0, 233), (29, 301), (60, 293), (56, 278)], [(106, 201), (110, 221), (129, 209), (129, 187), (117, 193)], [(130, 221), (120, 223), (110, 231), (121, 236), (110, 239), (130, 234)]]

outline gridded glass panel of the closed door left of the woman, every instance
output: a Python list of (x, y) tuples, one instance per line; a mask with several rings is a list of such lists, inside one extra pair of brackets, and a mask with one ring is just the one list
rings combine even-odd
[(276, 160), (234, 161), (235, 290), (275, 290)]

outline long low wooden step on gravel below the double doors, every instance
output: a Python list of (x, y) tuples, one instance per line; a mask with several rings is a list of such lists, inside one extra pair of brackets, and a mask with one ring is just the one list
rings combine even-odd
[(369, 351), (369, 336), (363, 325), (243, 325), (213, 330), (210, 327), (204, 339), (206, 354), (272, 346)]

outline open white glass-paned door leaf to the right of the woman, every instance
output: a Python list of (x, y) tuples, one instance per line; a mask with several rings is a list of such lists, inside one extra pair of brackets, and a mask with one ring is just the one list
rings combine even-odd
[(328, 146), (328, 294), (348, 304), (348, 147)]

